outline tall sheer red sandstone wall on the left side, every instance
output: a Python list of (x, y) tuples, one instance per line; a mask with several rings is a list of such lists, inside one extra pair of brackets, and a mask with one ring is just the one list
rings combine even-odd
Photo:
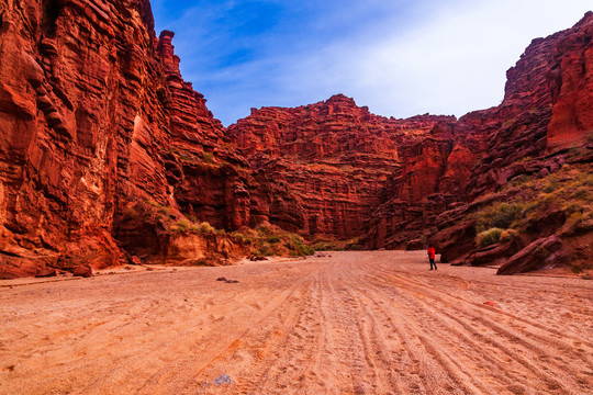
[[(156, 38), (147, 0), (9, 0), (0, 15), (0, 275), (160, 253), (182, 217), (169, 153), (222, 136), (172, 34)], [(148, 202), (170, 213), (124, 218)]]

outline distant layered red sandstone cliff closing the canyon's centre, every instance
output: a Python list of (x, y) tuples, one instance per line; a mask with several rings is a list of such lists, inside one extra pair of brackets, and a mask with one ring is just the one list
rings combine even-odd
[[(422, 174), (407, 171), (406, 149), (415, 145), (421, 150), (415, 155), (434, 160), (433, 151), (422, 151), (430, 149), (424, 144), (429, 131), (454, 120), (432, 115), (385, 119), (338, 94), (296, 109), (253, 110), (250, 116), (230, 126), (228, 134), (249, 157), (254, 171), (268, 174), (275, 184), (290, 185), (291, 200), (303, 221), (287, 225), (309, 237), (354, 238), (365, 233), (366, 221), (402, 167), (410, 177), (401, 192), (406, 199), (434, 193)], [(433, 172), (440, 171), (439, 166)], [(419, 163), (418, 168), (430, 172), (426, 170), (429, 166)], [(278, 207), (276, 213), (281, 211), (294, 211), (294, 206)], [(275, 223), (275, 218), (270, 221)]]

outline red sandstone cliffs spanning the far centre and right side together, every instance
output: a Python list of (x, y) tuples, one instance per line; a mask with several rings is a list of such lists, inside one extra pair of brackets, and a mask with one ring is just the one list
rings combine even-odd
[[(445, 260), (459, 259), (477, 249), (472, 213), (514, 199), (502, 193), (508, 182), (590, 163), (592, 21), (588, 13), (574, 27), (535, 40), (508, 70), (502, 104), (459, 121), (387, 120), (336, 95), (253, 110), (228, 132), (251, 168), (292, 187), (303, 234), (358, 236), (367, 248), (432, 239)], [(584, 154), (567, 154), (571, 147)], [(362, 177), (354, 179), (353, 169)]]

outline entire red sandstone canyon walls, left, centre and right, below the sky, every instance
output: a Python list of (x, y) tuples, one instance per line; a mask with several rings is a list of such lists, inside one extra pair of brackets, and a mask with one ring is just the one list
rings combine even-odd
[[(521, 194), (510, 181), (590, 170), (592, 33), (588, 13), (535, 40), (503, 103), (460, 120), (387, 119), (338, 94), (253, 110), (225, 129), (182, 79), (174, 33), (157, 38), (148, 0), (4, 1), (0, 278), (224, 261), (245, 246), (192, 229), (261, 223), (366, 248), (430, 238), (447, 260), (483, 260), (470, 253), (471, 214)], [(546, 218), (553, 229), (569, 221)], [(574, 237), (591, 233), (583, 223)]]

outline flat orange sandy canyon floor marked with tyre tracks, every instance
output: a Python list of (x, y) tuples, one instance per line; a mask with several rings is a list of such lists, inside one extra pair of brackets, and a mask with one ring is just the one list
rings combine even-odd
[(0, 393), (593, 394), (593, 281), (494, 273), (332, 252), (2, 286)]

